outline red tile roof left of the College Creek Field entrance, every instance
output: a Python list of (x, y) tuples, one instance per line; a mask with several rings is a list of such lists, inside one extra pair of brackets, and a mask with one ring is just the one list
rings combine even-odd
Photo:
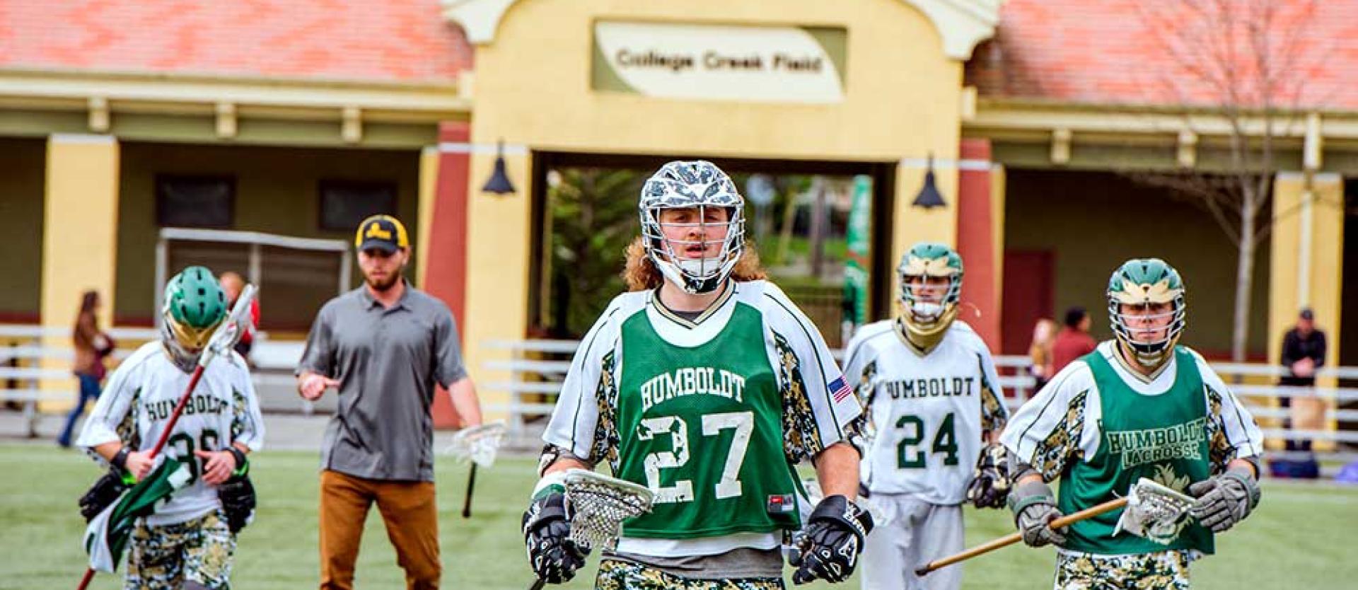
[(3, 0), (0, 68), (448, 82), (439, 0)]

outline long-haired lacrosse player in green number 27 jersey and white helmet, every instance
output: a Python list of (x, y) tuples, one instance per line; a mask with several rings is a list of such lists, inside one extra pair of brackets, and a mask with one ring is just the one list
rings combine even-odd
[(793, 580), (846, 579), (872, 529), (854, 504), (858, 401), (824, 340), (744, 239), (744, 198), (709, 162), (669, 162), (641, 189), (631, 292), (581, 341), (543, 435), (523, 519), (539, 579), (584, 563), (568, 534), (566, 469), (607, 461), (648, 487), (599, 589), (778, 589), (784, 534), (801, 527), (793, 469), (812, 459), (824, 500), (805, 522)]

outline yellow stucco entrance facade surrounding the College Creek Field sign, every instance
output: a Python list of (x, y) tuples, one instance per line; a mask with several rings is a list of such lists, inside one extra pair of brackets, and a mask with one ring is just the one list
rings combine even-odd
[[(697, 16), (702, 15), (702, 16)], [(589, 88), (596, 19), (674, 23), (842, 26), (847, 30), (845, 98), (834, 105), (676, 101)], [(504, 15), (493, 42), (477, 48), (473, 139), (528, 150), (860, 162), (955, 158), (961, 64), (942, 53), (940, 33), (899, 0), (625, 0), (520, 1)], [(528, 158), (509, 155), (517, 194), (479, 188), (493, 155), (471, 166), (467, 363), (485, 378), (483, 343), (521, 339), (528, 296)], [(919, 239), (953, 242), (955, 169), (938, 170), (949, 207), (923, 213), (909, 200), (923, 167), (900, 166), (892, 260)], [(515, 261), (507, 264), (507, 261)], [(497, 400), (492, 400), (497, 401)]]

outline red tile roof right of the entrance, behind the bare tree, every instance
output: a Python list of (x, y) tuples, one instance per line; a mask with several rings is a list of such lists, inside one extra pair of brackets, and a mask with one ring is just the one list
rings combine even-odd
[[(967, 64), (967, 82), (982, 97), (1039, 98), (1080, 103), (1219, 103), (1219, 92), (1192, 82), (1165, 50), (1175, 24), (1171, 0), (1006, 0), (995, 37)], [(1207, 3), (1196, 3), (1207, 4)], [(1245, 4), (1244, 1), (1236, 3)], [(1358, 1), (1282, 0), (1279, 23), (1305, 22), (1297, 72), (1301, 105), (1358, 109)], [(1146, 8), (1153, 7), (1153, 8)], [(1277, 30), (1297, 30), (1281, 24)], [(1205, 35), (1195, 35), (1203, 38)], [(1191, 53), (1191, 52), (1190, 52)]]

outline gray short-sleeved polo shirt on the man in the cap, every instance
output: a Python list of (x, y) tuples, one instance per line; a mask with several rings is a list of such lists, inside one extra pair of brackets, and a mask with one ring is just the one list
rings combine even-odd
[(325, 305), (297, 374), (340, 379), (320, 468), (373, 480), (433, 481), (435, 383), (467, 377), (441, 300), (406, 291), (391, 309), (359, 287)]

